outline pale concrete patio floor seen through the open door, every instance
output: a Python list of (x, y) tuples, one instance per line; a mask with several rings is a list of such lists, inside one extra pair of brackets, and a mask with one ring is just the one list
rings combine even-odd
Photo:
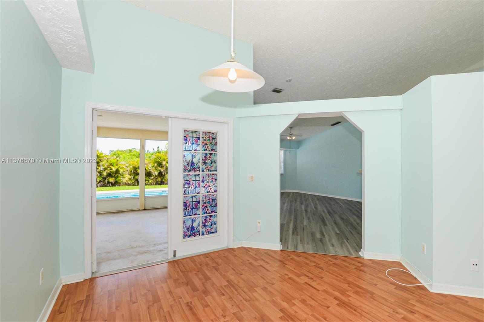
[(168, 258), (167, 208), (97, 214), (97, 272)]

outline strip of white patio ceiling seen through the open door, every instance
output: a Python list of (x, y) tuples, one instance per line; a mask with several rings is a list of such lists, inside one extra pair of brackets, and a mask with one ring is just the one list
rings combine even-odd
[(118, 129), (168, 131), (168, 117), (98, 111), (97, 126)]

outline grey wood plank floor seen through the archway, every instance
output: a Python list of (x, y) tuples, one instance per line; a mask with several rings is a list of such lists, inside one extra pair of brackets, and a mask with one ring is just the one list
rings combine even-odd
[(281, 192), (282, 249), (361, 257), (362, 203)]

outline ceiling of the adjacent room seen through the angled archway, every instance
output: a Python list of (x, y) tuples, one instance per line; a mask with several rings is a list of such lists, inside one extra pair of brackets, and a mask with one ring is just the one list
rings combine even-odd
[[(341, 122), (340, 124), (348, 122), (348, 120), (342, 116), (309, 118), (298, 117), (281, 134), (289, 133), (289, 127), (292, 127), (292, 132), (294, 134), (301, 134), (301, 136), (296, 136), (294, 141), (302, 141), (313, 135), (333, 129), (338, 125), (331, 126), (331, 124), (338, 121)], [(281, 135), (281, 141), (289, 141), (287, 140), (287, 135)]]

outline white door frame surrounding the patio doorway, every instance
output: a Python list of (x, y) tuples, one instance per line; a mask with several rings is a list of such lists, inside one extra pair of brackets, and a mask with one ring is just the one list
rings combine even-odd
[[(138, 108), (138, 107), (129, 107), (129, 106), (121, 106), (121, 105), (112, 105), (112, 104), (103, 104), (103, 103), (94, 103), (94, 102), (86, 102), (86, 113), (85, 113), (85, 133), (84, 133), (84, 157), (89, 159), (91, 158), (91, 149), (92, 149), (92, 128), (95, 126), (95, 120), (92, 120), (92, 111), (93, 110), (103, 110), (103, 111), (111, 111), (111, 112), (123, 112), (123, 113), (133, 113), (133, 114), (142, 114), (142, 115), (151, 115), (151, 116), (165, 116), (165, 117), (178, 117), (178, 118), (189, 118), (201, 121), (212, 121), (212, 122), (221, 122), (227, 123), (228, 127), (228, 201), (227, 201), (227, 247), (233, 247), (233, 200), (234, 200), (234, 191), (233, 191), (233, 119), (232, 118), (225, 118), (225, 117), (209, 117), (204, 115), (197, 115), (197, 114), (188, 114), (188, 113), (178, 113), (178, 112), (169, 112), (163, 110), (153, 110), (153, 109), (146, 109), (146, 108)], [(169, 121), (170, 122), (170, 121)], [(170, 137), (168, 136), (168, 149)], [(170, 189), (170, 153), (168, 153), (168, 191)], [(84, 164), (84, 278), (91, 278), (91, 249), (92, 249), (92, 211), (91, 211), (91, 194), (92, 189), (95, 189), (95, 182), (92, 182), (91, 178), (91, 163)], [(169, 192), (168, 192), (169, 193)], [(170, 228), (170, 205), (169, 205), (168, 198), (168, 234)], [(168, 237), (168, 259), (171, 258), (172, 249), (170, 238)]]

